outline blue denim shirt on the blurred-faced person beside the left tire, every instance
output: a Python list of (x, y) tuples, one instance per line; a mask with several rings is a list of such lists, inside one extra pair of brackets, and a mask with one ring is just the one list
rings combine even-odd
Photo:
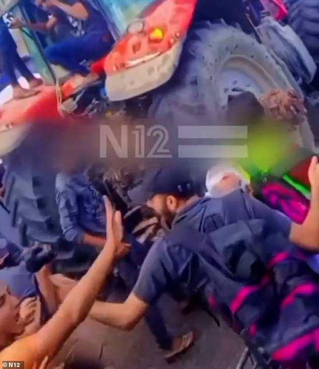
[(105, 236), (103, 197), (83, 173), (59, 173), (55, 191), (60, 225), (66, 240), (81, 243), (85, 233)]

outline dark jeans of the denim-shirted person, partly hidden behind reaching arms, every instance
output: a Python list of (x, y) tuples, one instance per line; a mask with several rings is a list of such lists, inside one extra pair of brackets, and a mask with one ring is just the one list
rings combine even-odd
[[(126, 287), (129, 290), (132, 290), (138, 278), (138, 268), (130, 260), (129, 256), (120, 260), (117, 264), (117, 268), (120, 277), (123, 279)], [(151, 334), (155, 337), (159, 347), (161, 347), (163, 350), (171, 349), (172, 337), (166, 329), (164, 319), (157, 305), (151, 305), (149, 307), (146, 315), (144, 316), (144, 319)]]

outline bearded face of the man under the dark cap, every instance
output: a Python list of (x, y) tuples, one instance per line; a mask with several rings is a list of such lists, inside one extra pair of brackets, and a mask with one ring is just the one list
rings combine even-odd
[(155, 195), (148, 200), (147, 205), (171, 225), (181, 205), (180, 200), (172, 195)]

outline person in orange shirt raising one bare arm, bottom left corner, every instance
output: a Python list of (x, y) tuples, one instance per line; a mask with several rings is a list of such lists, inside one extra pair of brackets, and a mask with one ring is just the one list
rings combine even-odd
[(121, 215), (107, 201), (107, 241), (87, 274), (74, 286), (53, 317), (38, 332), (18, 339), (24, 330), (19, 301), (6, 286), (0, 287), (0, 363), (24, 361), (25, 369), (46, 367), (74, 329), (82, 323), (116, 259), (129, 251), (122, 242)]

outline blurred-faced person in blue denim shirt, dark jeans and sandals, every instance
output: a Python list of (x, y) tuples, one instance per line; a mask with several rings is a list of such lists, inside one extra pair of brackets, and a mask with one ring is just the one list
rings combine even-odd
[[(60, 172), (56, 177), (56, 202), (64, 237), (77, 245), (92, 246), (94, 249), (87, 249), (96, 252), (103, 247), (107, 239), (102, 195), (84, 173), (76, 151), (69, 152), (67, 149), (66, 152), (60, 152), (57, 162)], [(137, 280), (139, 266), (147, 250), (130, 234), (126, 233), (125, 237), (131, 244), (131, 249), (118, 261), (116, 268), (130, 291)], [(168, 331), (161, 309), (157, 305), (153, 305), (144, 318), (166, 360), (174, 359), (193, 344), (193, 332), (173, 336)]]

